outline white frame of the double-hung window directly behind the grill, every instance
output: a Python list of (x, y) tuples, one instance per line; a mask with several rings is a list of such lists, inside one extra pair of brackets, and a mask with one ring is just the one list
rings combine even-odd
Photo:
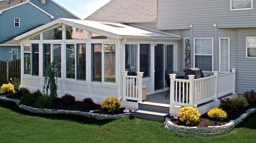
[[(211, 54), (195, 54), (195, 39), (212, 39), (212, 51), (211, 51)], [(194, 47), (194, 49), (193, 49), (193, 60), (194, 60), (194, 62), (193, 62), (193, 66), (195, 67), (195, 56), (211, 56), (212, 57), (212, 62), (211, 62), (211, 71), (202, 71), (202, 72), (210, 72), (210, 73), (212, 73), (212, 72), (214, 72), (214, 38), (213, 37), (211, 37), (211, 38), (194, 38), (194, 40), (193, 40), (193, 47)]]

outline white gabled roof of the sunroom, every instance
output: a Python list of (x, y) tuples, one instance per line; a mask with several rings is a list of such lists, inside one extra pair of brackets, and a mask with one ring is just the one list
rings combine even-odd
[(40, 32), (48, 27), (56, 24), (67, 24), (80, 29), (92, 31), (94, 33), (102, 34), (116, 39), (124, 38), (154, 38), (154, 39), (180, 39), (178, 35), (173, 35), (161, 31), (156, 31), (152, 29), (144, 29), (131, 25), (121, 24), (121, 23), (110, 23), (110, 22), (98, 22), (98, 21), (86, 21), (79, 19), (68, 19), (59, 18), (53, 22), (40, 26), (33, 29), (27, 33), (17, 36), (15, 40), (20, 40), (34, 33)]

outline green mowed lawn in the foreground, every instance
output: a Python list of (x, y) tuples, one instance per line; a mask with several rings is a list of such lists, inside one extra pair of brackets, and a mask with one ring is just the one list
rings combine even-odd
[(255, 119), (251, 115), (229, 134), (203, 137), (170, 133), (163, 122), (32, 114), (0, 101), (0, 142), (255, 142)]

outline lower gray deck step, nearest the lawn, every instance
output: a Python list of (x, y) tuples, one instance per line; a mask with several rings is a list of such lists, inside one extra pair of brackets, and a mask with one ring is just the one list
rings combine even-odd
[(170, 117), (170, 113), (136, 109), (131, 111), (131, 116), (148, 120), (164, 121), (167, 117)]

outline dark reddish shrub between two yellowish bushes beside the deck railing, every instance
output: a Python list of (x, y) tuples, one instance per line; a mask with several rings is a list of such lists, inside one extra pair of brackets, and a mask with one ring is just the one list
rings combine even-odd
[(233, 100), (230, 98), (224, 98), (220, 100), (220, 108), (222, 108), (227, 113), (233, 113), (237, 110), (237, 106), (234, 104)]

